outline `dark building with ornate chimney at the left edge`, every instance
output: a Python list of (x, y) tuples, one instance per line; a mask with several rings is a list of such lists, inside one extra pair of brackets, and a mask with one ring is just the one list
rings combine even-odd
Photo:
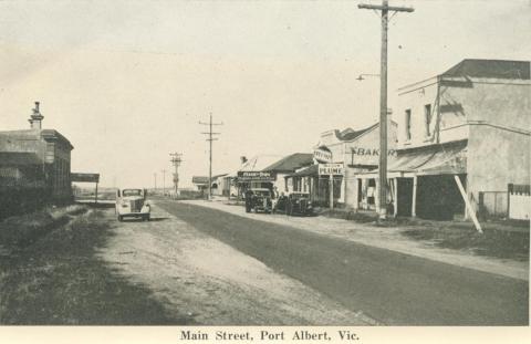
[(59, 132), (43, 129), (43, 118), (35, 102), (30, 129), (0, 132), (0, 186), (4, 192), (42, 188), (50, 200), (70, 200), (73, 146)]

